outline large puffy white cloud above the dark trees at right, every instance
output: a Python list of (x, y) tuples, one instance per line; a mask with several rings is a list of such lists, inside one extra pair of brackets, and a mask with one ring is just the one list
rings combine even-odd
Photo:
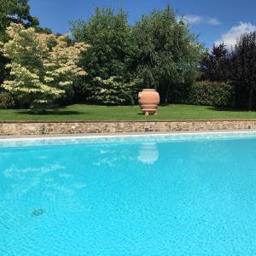
[(237, 39), (239, 39), (243, 33), (254, 31), (256, 31), (256, 26), (252, 23), (240, 22), (238, 26), (233, 26), (228, 32), (225, 32), (215, 44), (222, 44), (224, 42), (228, 48), (231, 48), (236, 44)]

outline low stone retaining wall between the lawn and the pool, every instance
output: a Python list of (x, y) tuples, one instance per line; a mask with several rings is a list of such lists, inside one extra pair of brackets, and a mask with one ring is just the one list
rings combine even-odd
[(256, 120), (0, 122), (0, 136), (247, 129), (256, 130)]

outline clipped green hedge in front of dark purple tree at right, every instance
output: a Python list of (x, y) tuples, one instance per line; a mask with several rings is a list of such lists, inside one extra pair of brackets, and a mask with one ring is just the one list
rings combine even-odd
[(196, 82), (189, 89), (187, 103), (216, 107), (230, 107), (234, 100), (234, 88), (230, 83)]

